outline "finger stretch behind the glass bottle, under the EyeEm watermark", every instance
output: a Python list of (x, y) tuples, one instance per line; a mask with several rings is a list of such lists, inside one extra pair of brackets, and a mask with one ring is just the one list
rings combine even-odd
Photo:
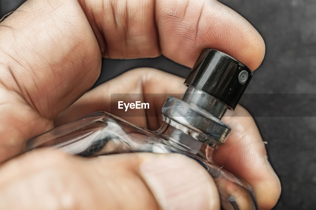
[[(55, 125), (61, 125), (76, 120), (93, 112), (106, 111), (121, 116), (125, 120), (139, 126), (155, 130), (162, 123), (160, 114), (162, 105), (170, 95), (177, 95), (181, 98), (186, 90), (186, 86), (183, 85), (183, 83), (183, 78), (157, 69), (134, 69), (85, 93), (56, 117)], [(128, 111), (134, 112), (133, 117), (126, 116), (124, 111), (122, 111), (123, 113), (116, 113), (115, 111), (118, 111), (118, 109), (115, 108), (117, 108), (118, 104), (113, 104), (112, 102), (119, 100), (115, 100), (115, 97), (122, 97), (121, 100), (124, 102), (127, 102), (129, 98), (131, 98), (133, 102), (137, 100), (148, 102), (150, 107), (155, 107), (154, 109), (149, 109), (150, 112), (154, 113), (147, 113), (146, 110), (139, 109)], [(140, 99), (136, 99), (138, 97), (140, 97)], [(158, 116), (158, 118), (156, 116)]]

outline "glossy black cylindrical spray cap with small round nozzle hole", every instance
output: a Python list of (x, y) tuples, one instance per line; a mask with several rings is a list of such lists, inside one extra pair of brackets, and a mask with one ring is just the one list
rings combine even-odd
[(234, 110), (251, 77), (252, 71), (233, 57), (204, 49), (184, 84), (203, 90)]

